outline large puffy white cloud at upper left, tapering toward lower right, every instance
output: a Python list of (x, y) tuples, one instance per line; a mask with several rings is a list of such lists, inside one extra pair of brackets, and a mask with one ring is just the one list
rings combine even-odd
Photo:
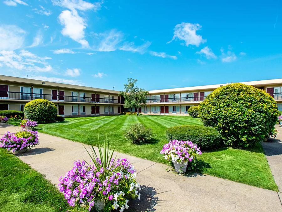
[(72, 40), (80, 43), (82, 47), (89, 47), (89, 43), (84, 39), (86, 22), (77, 14), (76, 10), (64, 10), (59, 15), (60, 24), (64, 26), (61, 33), (69, 36)]

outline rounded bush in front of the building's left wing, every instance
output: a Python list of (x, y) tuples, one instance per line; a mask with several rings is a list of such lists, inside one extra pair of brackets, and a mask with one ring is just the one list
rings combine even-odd
[(48, 100), (35, 99), (24, 106), (24, 115), (37, 123), (55, 122), (57, 107)]

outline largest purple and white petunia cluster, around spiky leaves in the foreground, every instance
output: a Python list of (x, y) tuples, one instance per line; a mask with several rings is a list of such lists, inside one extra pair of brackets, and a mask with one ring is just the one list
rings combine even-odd
[(105, 211), (122, 212), (128, 209), (127, 198), (140, 199), (140, 185), (129, 160), (112, 159), (106, 169), (99, 159), (96, 166), (86, 166), (85, 161), (76, 161), (74, 165), (65, 177), (60, 177), (58, 184), (70, 206), (86, 204), (90, 211), (93, 206), (102, 205)]

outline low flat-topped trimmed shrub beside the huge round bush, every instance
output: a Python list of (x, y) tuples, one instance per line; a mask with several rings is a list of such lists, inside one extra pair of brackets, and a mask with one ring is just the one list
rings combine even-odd
[(168, 141), (192, 141), (201, 149), (218, 148), (222, 141), (221, 135), (216, 129), (201, 125), (182, 125), (167, 128), (166, 138)]

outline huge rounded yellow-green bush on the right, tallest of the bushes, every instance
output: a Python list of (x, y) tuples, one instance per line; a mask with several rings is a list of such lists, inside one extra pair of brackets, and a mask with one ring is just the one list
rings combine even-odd
[(216, 128), (226, 145), (248, 147), (273, 133), (279, 112), (264, 90), (241, 83), (214, 90), (200, 103), (205, 126)]

